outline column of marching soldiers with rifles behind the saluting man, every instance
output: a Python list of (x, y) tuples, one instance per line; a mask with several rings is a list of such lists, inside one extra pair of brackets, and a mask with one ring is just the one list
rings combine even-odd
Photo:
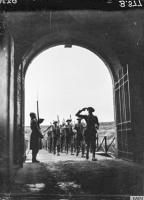
[(67, 119), (66, 123), (59, 124), (58, 121), (54, 121), (53, 125), (47, 128), (47, 137), (43, 140), (43, 146), (49, 153), (57, 154), (65, 152), (71, 155), (76, 153), (78, 156), (82, 150), (82, 157), (84, 157), (85, 147), (85, 124), (81, 122), (81, 119), (77, 119), (78, 123), (72, 124), (71, 119)]

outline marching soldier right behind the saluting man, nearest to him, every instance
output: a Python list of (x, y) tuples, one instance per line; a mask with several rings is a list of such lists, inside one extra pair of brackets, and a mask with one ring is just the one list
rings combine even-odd
[(76, 137), (75, 137), (75, 145), (76, 145), (76, 156), (79, 155), (80, 149), (82, 150), (82, 157), (84, 157), (84, 146), (83, 146), (83, 132), (84, 127), (81, 123), (81, 118), (78, 118), (78, 123), (75, 124), (75, 130), (76, 130)]

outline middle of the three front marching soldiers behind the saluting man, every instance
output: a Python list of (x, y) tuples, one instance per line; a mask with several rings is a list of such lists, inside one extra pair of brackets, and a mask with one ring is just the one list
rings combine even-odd
[(74, 144), (73, 144), (73, 130), (72, 130), (72, 125), (71, 125), (71, 119), (67, 119), (66, 122), (66, 126), (65, 126), (65, 141), (66, 141), (66, 153), (68, 153), (68, 150), (69, 150), (69, 147), (70, 147), (70, 150), (71, 150), (71, 155), (73, 154), (73, 147), (74, 147)]

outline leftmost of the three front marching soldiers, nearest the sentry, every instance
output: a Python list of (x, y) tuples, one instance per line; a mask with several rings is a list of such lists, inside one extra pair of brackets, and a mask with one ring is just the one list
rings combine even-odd
[(58, 126), (58, 122), (54, 121), (52, 126), (52, 133), (53, 133), (53, 152), (59, 156), (60, 154), (60, 127)]

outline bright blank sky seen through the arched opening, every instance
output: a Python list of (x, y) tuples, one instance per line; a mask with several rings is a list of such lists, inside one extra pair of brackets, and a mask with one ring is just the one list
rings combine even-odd
[(29, 65), (25, 79), (25, 124), (39, 100), (43, 125), (70, 118), (83, 107), (95, 108), (100, 122), (113, 121), (112, 78), (104, 62), (78, 46), (52, 47)]

